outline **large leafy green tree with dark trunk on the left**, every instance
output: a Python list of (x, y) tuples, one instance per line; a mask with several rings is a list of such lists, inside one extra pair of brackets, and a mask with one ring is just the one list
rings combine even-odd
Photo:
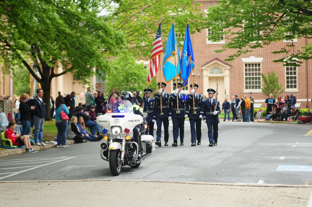
[[(81, 77), (80, 83), (88, 84), (91, 75), (115, 69), (107, 57), (119, 55), (124, 35), (92, 11), (95, 1), (0, 0), (0, 5), (2, 71), (10, 73), (13, 62), (24, 65), (41, 84), (45, 103), (50, 102), (55, 77), (70, 72)], [(63, 71), (57, 73), (60, 66)], [(50, 120), (49, 104), (46, 112)]]

